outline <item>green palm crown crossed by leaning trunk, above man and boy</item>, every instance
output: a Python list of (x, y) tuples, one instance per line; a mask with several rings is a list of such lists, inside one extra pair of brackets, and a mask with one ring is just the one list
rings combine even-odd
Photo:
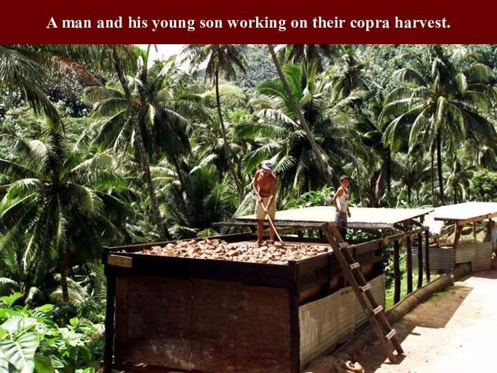
[[(352, 119), (350, 106), (362, 99), (362, 93), (354, 92), (347, 99), (338, 102), (333, 100), (327, 80), (318, 75), (315, 64), (308, 68), (304, 64), (288, 65), (283, 74), (285, 82), (291, 82), (288, 87), (291, 97), (299, 102), (298, 112), (293, 110), (288, 91), (281, 79), (260, 84), (257, 91), (268, 98), (257, 99), (253, 104), (261, 109), (259, 115), (271, 119), (280, 128), (271, 123), (253, 126), (254, 130), (263, 130), (260, 135), (270, 141), (265, 140), (266, 144), (261, 144), (249, 157), (259, 154), (255, 159), (260, 160), (260, 157), (269, 155), (269, 152), (278, 153), (277, 160), (281, 162), (281, 166), (277, 168), (293, 173), (289, 187), (296, 186), (300, 175), (306, 180), (304, 191), (309, 191), (311, 180), (315, 180), (314, 187), (320, 187), (320, 175), (331, 185), (331, 174), (336, 173), (344, 162), (352, 161), (358, 152), (358, 143), (351, 140), (353, 134), (348, 129)], [(310, 135), (298, 126), (299, 117), (303, 118)], [(273, 139), (280, 142), (280, 145), (275, 146), (275, 142), (271, 141)], [(326, 162), (327, 172), (324, 174), (320, 164), (322, 158), (315, 155), (313, 143)]]

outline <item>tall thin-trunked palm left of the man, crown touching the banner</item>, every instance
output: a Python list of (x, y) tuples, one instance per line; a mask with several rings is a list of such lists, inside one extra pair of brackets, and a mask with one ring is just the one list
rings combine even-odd
[(223, 74), (226, 79), (235, 78), (235, 67), (239, 68), (242, 73), (245, 73), (246, 63), (242, 48), (243, 46), (241, 44), (187, 44), (182, 50), (182, 53), (186, 55), (186, 58), (191, 61), (191, 66), (194, 66), (195, 68), (207, 61), (205, 79), (214, 80), (217, 116), (220, 120), (224, 151), (226, 152), (226, 158), (233, 180), (235, 180), (240, 200), (244, 197), (244, 186), (242, 180), (237, 176), (235, 166), (233, 165), (233, 157), (231, 156), (231, 149), (221, 110), (219, 79), (221, 74)]

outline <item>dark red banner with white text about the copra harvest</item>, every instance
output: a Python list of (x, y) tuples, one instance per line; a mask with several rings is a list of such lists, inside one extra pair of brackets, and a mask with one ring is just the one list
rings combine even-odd
[(491, 44), (493, 12), (467, 4), (5, 1), (0, 35), (9, 44)]

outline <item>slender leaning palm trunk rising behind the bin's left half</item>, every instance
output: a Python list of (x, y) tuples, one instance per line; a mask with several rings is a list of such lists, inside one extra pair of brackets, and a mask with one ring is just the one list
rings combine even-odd
[[(159, 233), (159, 236), (162, 240), (170, 240), (171, 236), (166, 227), (164, 227), (164, 224), (162, 224), (159, 202), (157, 202), (155, 188), (153, 186), (152, 174), (150, 173), (150, 166), (148, 165), (148, 160), (146, 157), (145, 144), (142, 137), (142, 128), (140, 128), (138, 122), (138, 113), (133, 106), (133, 97), (131, 97), (130, 90), (128, 88), (128, 85), (126, 84), (126, 80), (124, 79), (121, 62), (119, 61), (119, 57), (117, 56), (117, 51), (115, 49), (113, 50), (113, 59), (117, 77), (119, 77), (119, 82), (121, 83), (124, 94), (126, 95), (126, 101), (128, 102), (128, 110), (130, 111), (131, 122), (133, 123), (133, 130), (135, 131), (135, 141), (138, 149), (139, 164), (142, 168), (142, 171), (144, 171), (148, 189), (148, 196), (150, 197), (150, 208), (152, 209), (152, 213), (155, 218), (155, 224), (157, 224), (157, 233)], [(145, 65), (144, 68), (147, 68), (147, 66)]]

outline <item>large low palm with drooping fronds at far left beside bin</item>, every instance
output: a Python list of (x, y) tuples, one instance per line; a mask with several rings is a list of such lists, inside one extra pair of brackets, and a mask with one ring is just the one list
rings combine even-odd
[[(125, 220), (132, 215), (119, 197), (126, 189), (111, 171), (113, 157), (71, 146), (55, 127), (37, 140), (3, 135), (12, 149), (0, 159), (7, 178), (0, 202), (2, 256), (14, 256), (23, 283), (36, 283), (58, 267), (64, 300), (72, 262), (98, 258), (102, 244), (122, 242)], [(58, 263), (58, 265), (57, 265)], [(25, 289), (28, 289), (26, 287)]]

